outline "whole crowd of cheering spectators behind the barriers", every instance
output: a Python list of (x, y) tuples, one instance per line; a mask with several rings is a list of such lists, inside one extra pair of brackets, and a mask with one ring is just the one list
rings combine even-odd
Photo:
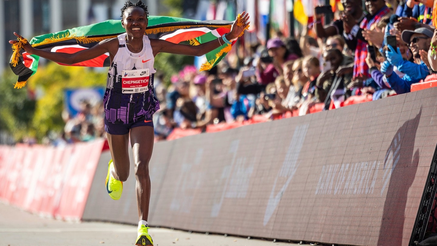
[[(205, 131), (378, 100), (437, 78), (433, 1), (340, 3), (342, 11), (332, 13), (315, 7), (313, 22), (298, 37), (277, 32), (265, 45), (236, 45), (210, 71), (184, 67), (169, 87), (155, 76), (156, 140), (175, 129)], [(327, 17), (334, 21), (325, 23)], [(105, 135), (101, 107), (84, 103), (78, 116), (64, 119), (66, 142)]]

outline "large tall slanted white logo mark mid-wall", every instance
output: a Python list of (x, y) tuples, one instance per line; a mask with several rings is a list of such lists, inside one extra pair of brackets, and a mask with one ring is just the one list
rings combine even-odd
[[(291, 179), (295, 175), (298, 169), (298, 158), (300, 151), (302, 150), (303, 142), (305, 141), (306, 133), (308, 131), (309, 125), (298, 126), (295, 129), (293, 138), (291, 138), (290, 145), (288, 146), (287, 155), (285, 156), (284, 162), (282, 164), (281, 170), (278, 172), (272, 191), (270, 193), (269, 201), (267, 203), (266, 212), (264, 214), (264, 225), (267, 225), (277, 205), (281, 201), (282, 195), (288, 187)], [(279, 190), (276, 195), (274, 195), (276, 184), (279, 183), (279, 178), (287, 178), (285, 183), (282, 185), (281, 190)]]

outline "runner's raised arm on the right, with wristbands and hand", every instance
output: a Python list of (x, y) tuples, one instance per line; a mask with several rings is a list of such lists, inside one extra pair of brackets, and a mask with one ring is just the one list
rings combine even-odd
[[(250, 21), (248, 22), (249, 14), (247, 14), (246, 11), (243, 11), (240, 18), (242, 20), (242, 25), (238, 25), (237, 18), (232, 24), (231, 32), (225, 35), (226, 39), (232, 40), (238, 38), (239, 35), (241, 35), (243, 31), (247, 28), (250, 23)], [(214, 39), (198, 46), (175, 44), (161, 39), (151, 39), (150, 44), (152, 45), (154, 56), (156, 56), (156, 54), (160, 52), (187, 56), (201, 56), (214, 49), (217, 49), (221, 45), (225, 44), (225, 42), (223, 42), (223, 39), (219, 37), (218, 39)]]

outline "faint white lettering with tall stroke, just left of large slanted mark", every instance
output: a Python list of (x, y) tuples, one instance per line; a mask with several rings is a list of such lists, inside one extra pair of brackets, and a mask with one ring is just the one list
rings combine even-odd
[[(232, 155), (230, 165), (223, 167), (220, 184), (216, 186), (215, 194), (211, 210), (211, 217), (217, 217), (222, 208), (225, 198), (245, 198), (249, 189), (250, 177), (253, 173), (253, 165), (246, 167), (246, 157), (238, 157), (239, 140), (234, 140), (229, 145), (229, 154)], [(241, 154), (241, 153), (239, 153)], [(253, 162), (257, 156), (253, 158)], [(252, 162), (252, 163), (253, 163)]]

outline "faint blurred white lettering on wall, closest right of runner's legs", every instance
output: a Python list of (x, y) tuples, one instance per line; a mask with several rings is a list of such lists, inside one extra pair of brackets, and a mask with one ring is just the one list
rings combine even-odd
[[(201, 184), (203, 175), (203, 169), (194, 167), (201, 164), (203, 155), (203, 149), (198, 149), (193, 162), (187, 162), (184, 157), (182, 162), (182, 168), (180, 170), (179, 179), (177, 180), (176, 187), (178, 187), (173, 194), (173, 199), (170, 203), (171, 211), (179, 211), (183, 213), (190, 213), (191, 205), (194, 202), (194, 189), (198, 189)], [(190, 154), (191, 155), (191, 154)], [(193, 168), (194, 167), (194, 168)]]

